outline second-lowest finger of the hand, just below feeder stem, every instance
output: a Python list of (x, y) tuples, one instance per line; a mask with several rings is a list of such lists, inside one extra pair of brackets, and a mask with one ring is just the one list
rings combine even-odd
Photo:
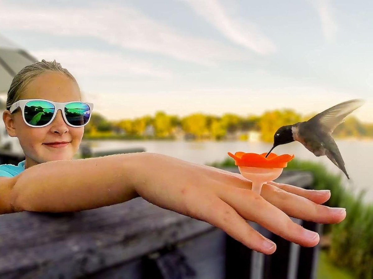
[(258, 223), (286, 240), (305, 247), (319, 243), (319, 234), (294, 223), (288, 215), (251, 190), (231, 187), (220, 198), (243, 218)]

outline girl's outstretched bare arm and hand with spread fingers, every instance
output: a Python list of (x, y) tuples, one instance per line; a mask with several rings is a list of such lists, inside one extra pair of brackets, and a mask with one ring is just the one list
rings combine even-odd
[(276, 250), (275, 244), (246, 220), (310, 247), (319, 242), (319, 235), (289, 216), (338, 223), (346, 215), (343, 209), (321, 205), (330, 198), (327, 191), (270, 182), (263, 185), (260, 196), (241, 174), (154, 153), (43, 163), (25, 170), (13, 182), (6, 189), (14, 211), (79, 211), (142, 196), (162, 208), (209, 222), (266, 254)]

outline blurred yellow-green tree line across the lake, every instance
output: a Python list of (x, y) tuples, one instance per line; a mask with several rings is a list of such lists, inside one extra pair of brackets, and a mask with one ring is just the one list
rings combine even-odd
[[(306, 121), (312, 116), (302, 116), (293, 110), (283, 109), (267, 111), (261, 116), (193, 113), (180, 118), (159, 111), (154, 116), (110, 121), (99, 113), (93, 113), (90, 123), (85, 126), (85, 137), (173, 139), (182, 134), (183, 137), (196, 140), (224, 140), (228, 135), (238, 135), (245, 140), (247, 132), (255, 131), (260, 133), (261, 140), (272, 142), (273, 135), (280, 126)], [(373, 137), (373, 124), (360, 122), (351, 116), (335, 129), (333, 135), (336, 138)]]

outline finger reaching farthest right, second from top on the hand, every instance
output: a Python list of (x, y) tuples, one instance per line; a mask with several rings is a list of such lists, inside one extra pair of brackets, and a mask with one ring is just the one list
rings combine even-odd
[(345, 209), (319, 205), (303, 196), (286, 192), (272, 185), (263, 185), (261, 196), (287, 215), (322, 224), (336, 224), (346, 217)]

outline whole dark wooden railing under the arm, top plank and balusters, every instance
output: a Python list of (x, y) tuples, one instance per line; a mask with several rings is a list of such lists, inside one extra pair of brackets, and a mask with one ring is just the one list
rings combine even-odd
[[(311, 187), (313, 179), (284, 171), (278, 181)], [(275, 241), (274, 254), (142, 198), (73, 213), (0, 215), (0, 278), (315, 278), (319, 246), (300, 247), (251, 225)]]

